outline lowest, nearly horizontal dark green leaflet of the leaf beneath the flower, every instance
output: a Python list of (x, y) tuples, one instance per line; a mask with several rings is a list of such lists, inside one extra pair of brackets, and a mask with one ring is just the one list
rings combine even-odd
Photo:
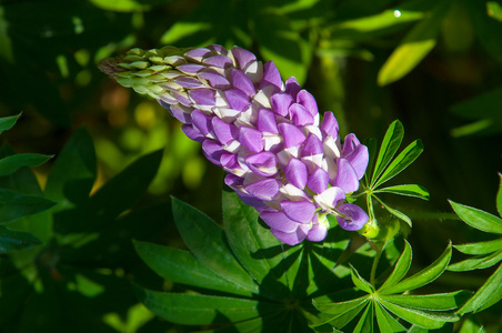
[(232, 297), (174, 294), (138, 290), (141, 302), (167, 321), (184, 325), (230, 323), (258, 317), (283, 309), (274, 303)]

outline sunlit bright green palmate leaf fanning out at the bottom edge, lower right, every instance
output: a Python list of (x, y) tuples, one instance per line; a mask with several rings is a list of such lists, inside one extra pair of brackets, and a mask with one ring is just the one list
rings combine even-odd
[(461, 306), (471, 295), (470, 292), (458, 291), (428, 295), (402, 294), (434, 281), (444, 272), (451, 259), (451, 244), (434, 263), (406, 279), (404, 276), (410, 269), (412, 251), (408, 242), (404, 242), (404, 250), (394, 264), (392, 273), (379, 289), (369, 284), (355, 269), (352, 269), (354, 285), (368, 293), (367, 296), (334, 303), (314, 300), (314, 306), (328, 315), (323, 322), (315, 323), (315, 325), (330, 323), (337, 330), (341, 330), (363, 309), (365, 309), (364, 313), (361, 315), (354, 332), (363, 332), (363, 323), (367, 329), (371, 327), (374, 320), (376, 320), (380, 332), (405, 332), (406, 329), (394, 316), (425, 329), (439, 329), (448, 322), (458, 321), (460, 316), (451, 311)]

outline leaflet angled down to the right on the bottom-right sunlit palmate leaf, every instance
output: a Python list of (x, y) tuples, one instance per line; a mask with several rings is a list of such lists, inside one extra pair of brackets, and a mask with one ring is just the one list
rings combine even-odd
[(449, 313), (434, 313), (418, 309), (403, 307), (382, 299), (379, 299), (379, 303), (396, 316), (424, 329), (440, 329), (444, 325), (444, 323), (456, 322), (460, 319), (458, 315)]

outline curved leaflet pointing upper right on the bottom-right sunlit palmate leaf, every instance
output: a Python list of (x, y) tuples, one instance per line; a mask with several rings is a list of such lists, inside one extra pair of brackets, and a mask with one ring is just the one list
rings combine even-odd
[(446, 250), (431, 265), (423, 269), (419, 273), (399, 282), (395, 285), (391, 285), (385, 290), (388, 294), (398, 294), (413, 289), (418, 289), (422, 285), (431, 283), (438, 279), (446, 269), (451, 259), (451, 243), (448, 245)]

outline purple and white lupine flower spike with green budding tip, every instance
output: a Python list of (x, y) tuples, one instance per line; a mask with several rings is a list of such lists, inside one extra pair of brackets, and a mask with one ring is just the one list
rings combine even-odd
[(323, 120), (314, 98), (272, 61), (234, 47), (130, 50), (106, 59), (103, 72), (159, 101), (227, 171), (225, 183), (260, 212), (283, 243), (322, 241), (328, 214), (345, 230), (368, 221), (345, 194), (359, 189), (368, 149), (339, 137), (333, 113)]

